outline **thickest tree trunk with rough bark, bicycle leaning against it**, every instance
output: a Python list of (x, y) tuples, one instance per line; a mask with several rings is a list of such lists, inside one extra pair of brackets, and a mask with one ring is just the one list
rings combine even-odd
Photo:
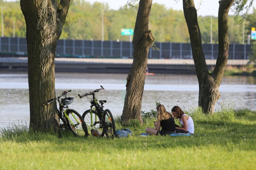
[(28, 81), (30, 131), (59, 129), (56, 102), (43, 106), (55, 98), (56, 44), (65, 22), (69, 0), (20, 0), (26, 21), (28, 51)]

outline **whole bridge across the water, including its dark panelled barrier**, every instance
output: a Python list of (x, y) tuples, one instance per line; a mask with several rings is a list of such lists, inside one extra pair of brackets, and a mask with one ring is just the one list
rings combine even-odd
[[(155, 42), (148, 53), (148, 68), (154, 73), (195, 73), (190, 43)], [(203, 44), (206, 64), (214, 68), (218, 44)], [(230, 44), (227, 65), (248, 63), (251, 45)], [(132, 42), (60, 39), (55, 70), (68, 72), (128, 73), (133, 63)], [(27, 69), (26, 38), (0, 37), (0, 68)]]

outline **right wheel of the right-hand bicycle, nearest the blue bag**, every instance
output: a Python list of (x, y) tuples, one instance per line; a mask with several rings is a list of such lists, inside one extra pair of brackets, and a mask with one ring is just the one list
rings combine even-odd
[(101, 136), (106, 135), (106, 137), (115, 137), (116, 136), (116, 127), (114, 118), (111, 114), (111, 111), (106, 109), (104, 111), (105, 125), (103, 126), (103, 131)]

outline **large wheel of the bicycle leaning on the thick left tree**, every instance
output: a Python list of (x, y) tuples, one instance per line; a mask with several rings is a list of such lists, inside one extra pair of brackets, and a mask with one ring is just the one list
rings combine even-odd
[(76, 136), (87, 137), (89, 135), (87, 126), (81, 115), (73, 109), (66, 110), (66, 114), (69, 117), (69, 119), (66, 117), (66, 122), (72, 133)]

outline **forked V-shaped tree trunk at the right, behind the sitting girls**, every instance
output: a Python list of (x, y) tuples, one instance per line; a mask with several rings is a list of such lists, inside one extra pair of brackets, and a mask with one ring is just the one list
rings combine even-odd
[(220, 98), (219, 87), (228, 59), (228, 12), (234, 0), (219, 1), (218, 30), (219, 53), (215, 69), (209, 73), (203, 54), (200, 28), (197, 22), (197, 10), (193, 0), (183, 0), (184, 16), (190, 35), (191, 49), (199, 83), (198, 105), (204, 113), (213, 113), (214, 106)]

